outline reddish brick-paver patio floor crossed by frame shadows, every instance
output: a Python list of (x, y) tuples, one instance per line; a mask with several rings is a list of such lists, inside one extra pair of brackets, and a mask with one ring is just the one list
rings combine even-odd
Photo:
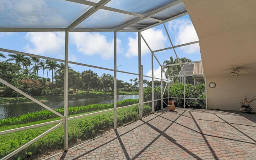
[(255, 160), (256, 114), (237, 113), (163, 109), (45, 160)]

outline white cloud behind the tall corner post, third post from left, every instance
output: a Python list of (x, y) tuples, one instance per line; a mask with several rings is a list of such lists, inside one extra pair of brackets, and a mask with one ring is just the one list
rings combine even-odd
[[(162, 49), (165, 47), (167, 38), (164, 36), (162, 30), (150, 28), (143, 31), (142, 36), (145, 38), (152, 50)], [(150, 53), (150, 50), (144, 40), (141, 39), (141, 55), (143, 56), (146, 53)], [(136, 34), (136, 38), (128, 38), (128, 50), (125, 55), (126, 57), (138, 56), (138, 34)]]

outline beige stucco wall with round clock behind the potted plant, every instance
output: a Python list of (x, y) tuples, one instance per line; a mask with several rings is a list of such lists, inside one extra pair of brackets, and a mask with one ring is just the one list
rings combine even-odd
[[(242, 73), (241, 73), (242, 74)], [(206, 77), (207, 108), (240, 111), (240, 100), (247, 95), (248, 99), (256, 98), (256, 76), (223, 76)], [(209, 83), (216, 83), (210, 88)], [(256, 112), (256, 101), (251, 105)]]

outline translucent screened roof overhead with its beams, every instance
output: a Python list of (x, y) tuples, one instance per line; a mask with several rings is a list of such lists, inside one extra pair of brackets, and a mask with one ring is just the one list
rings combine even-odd
[(0, 2), (0, 32), (138, 32), (187, 14), (182, 0)]

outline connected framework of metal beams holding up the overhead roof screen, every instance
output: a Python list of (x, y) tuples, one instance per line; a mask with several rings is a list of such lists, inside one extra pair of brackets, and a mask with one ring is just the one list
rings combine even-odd
[[(176, 19), (178, 17), (184, 16), (186, 14), (188, 14), (187, 12), (184, 12), (182, 14), (179, 14), (177, 16), (174, 16), (172, 18), (169, 18), (167, 20), (158, 20), (156, 18), (151, 18), (150, 16), (153, 16), (155, 14), (158, 14), (159, 12), (162, 12), (168, 8), (171, 8), (177, 4), (182, 3), (182, 0), (176, 0), (174, 2), (171, 2), (165, 6), (162, 6), (146, 15), (142, 15), (142, 14), (136, 14), (133, 12), (128, 12), (125, 10), (119, 10), (116, 8), (111, 8), (111, 7), (107, 7), (105, 6), (108, 2), (110, 2), (111, 0), (101, 0), (98, 3), (94, 3), (94, 2), (90, 2), (90, 1), (86, 1), (86, 0), (66, 0), (69, 2), (74, 2), (74, 3), (79, 3), (79, 4), (84, 4), (84, 5), (88, 5), (91, 6), (91, 8), (86, 11), (82, 16), (80, 16), (78, 19), (76, 19), (74, 22), (72, 22), (67, 28), (0, 28), (0, 32), (138, 32), (138, 31), (144, 31), (147, 30), (149, 28), (152, 28), (154, 26), (158, 26), (160, 24), (163, 24), (165, 22), (168, 22), (170, 20)], [(114, 29), (94, 29), (94, 28), (77, 28), (74, 29), (74, 27), (76, 27), (78, 24), (80, 24), (82, 21), (84, 21), (86, 18), (88, 18), (89, 16), (91, 16), (92, 14), (94, 14), (96, 11), (98, 11), (99, 9), (103, 9), (103, 10), (109, 10), (112, 12), (117, 12), (117, 13), (122, 13), (122, 14), (128, 14), (128, 15), (132, 15), (132, 16), (137, 16), (138, 18), (132, 20), (131, 22), (128, 22), (122, 26), (119, 26), (117, 28)], [(153, 24), (151, 26), (148, 26), (146, 28), (142, 28), (142, 29), (137, 29), (137, 30), (123, 30), (124, 28), (133, 25), (141, 20), (144, 19), (150, 19), (153, 21), (156, 21), (156, 24)]]

